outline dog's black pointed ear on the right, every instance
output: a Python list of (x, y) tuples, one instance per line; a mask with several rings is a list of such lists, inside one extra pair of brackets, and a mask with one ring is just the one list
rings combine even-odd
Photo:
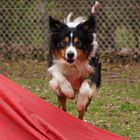
[(82, 28), (85, 32), (94, 33), (96, 28), (96, 20), (93, 15), (89, 16), (88, 20), (80, 24), (78, 28)]

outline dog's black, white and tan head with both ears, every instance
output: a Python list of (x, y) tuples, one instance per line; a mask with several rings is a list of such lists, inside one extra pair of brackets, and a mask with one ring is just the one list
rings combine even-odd
[(67, 63), (87, 60), (93, 49), (95, 17), (93, 15), (88, 19), (79, 17), (73, 22), (70, 18), (69, 14), (64, 22), (61, 22), (49, 17), (50, 52), (55, 60), (63, 60)]

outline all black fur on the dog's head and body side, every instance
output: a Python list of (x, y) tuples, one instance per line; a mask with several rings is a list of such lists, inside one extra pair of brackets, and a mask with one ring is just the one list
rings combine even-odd
[[(91, 15), (84, 23), (79, 24), (76, 28), (70, 28), (59, 20), (49, 17), (49, 27), (51, 34), (48, 55), (49, 67), (53, 64), (53, 55), (55, 50), (64, 48), (68, 45), (63, 42), (63, 40), (66, 36), (70, 38), (71, 32), (73, 32), (74, 37), (77, 36), (79, 39), (78, 44), (76, 44), (78, 48), (90, 55), (93, 48), (93, 33), (95, 32), (96, 27), (95, 17), (93, 15)], [(96, 53), (95, 57), (90, 58), (89, 64), (95, 68), (95, 74), (90, 75), (89, 79), (92, 83), (96, 84), (97, 87), (100, 87), (101, 62), (99, 54)]]

